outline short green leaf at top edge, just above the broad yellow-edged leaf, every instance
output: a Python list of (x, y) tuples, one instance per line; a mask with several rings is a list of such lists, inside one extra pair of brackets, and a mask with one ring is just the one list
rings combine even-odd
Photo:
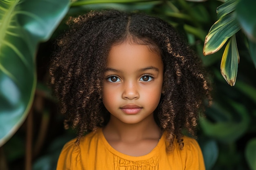
[(233, 12), (236, 9), (236, 5), (239, 0), (228, 0), (227, 2), (220, 5), (217, 9), (217, 18), (220, 19), (228, 13)]

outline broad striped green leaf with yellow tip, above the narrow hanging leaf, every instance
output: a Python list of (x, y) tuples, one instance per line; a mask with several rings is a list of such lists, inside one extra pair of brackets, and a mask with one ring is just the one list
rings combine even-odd
[(218, 51), (225, 42), (240, 30), (240, 25), (236, 20), (234, 12), (229, 13), (211, 26), (204, 41), (204, 55), (209, 55)]

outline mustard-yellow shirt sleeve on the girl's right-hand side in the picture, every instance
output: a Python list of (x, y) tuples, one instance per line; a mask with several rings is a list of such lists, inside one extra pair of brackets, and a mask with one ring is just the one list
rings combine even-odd
[(198, 142), (195, 139), (187, 138), (184, 148), (186, 149), (185, 170), (205, 170), (204, 158)]

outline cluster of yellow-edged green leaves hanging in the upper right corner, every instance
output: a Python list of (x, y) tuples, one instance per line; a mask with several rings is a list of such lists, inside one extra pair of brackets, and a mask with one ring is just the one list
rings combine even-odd
[(227, 0), (217, 8), (218, 21), (213, 24), (204, 41), (204, 55), (218, 51), (228, 40), (222, 55), (220, 71), (229, 85), (234, 86), (240, 60), (236, 44), (236, 33), (242, 28), (245, 44), (248, 44), (252, 61), (256, 67), (256, 20), (252, 11), (254, 0)]

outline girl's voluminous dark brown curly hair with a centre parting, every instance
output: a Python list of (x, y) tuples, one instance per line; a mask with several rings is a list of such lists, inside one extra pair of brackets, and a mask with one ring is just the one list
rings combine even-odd
[(167, 132), (167, 150), (175, 137), (183, 148), (183, 129), (195, 136), (203, 101), (211, 103), (211, 88), (197, 55), (173, 26), (152, 16), (115, 10), (90, 11), (70, 18), (67, 24), (70, 29), (58, 40), (49, 74), (61, 113), (67, 118), (65, 125), (77, 129), (77, 145), (85, 132), (108, 123), (102, 87), (106, 60), (111, 46), (128, 39), (162, 56), (164, 94), (154, 115)]

